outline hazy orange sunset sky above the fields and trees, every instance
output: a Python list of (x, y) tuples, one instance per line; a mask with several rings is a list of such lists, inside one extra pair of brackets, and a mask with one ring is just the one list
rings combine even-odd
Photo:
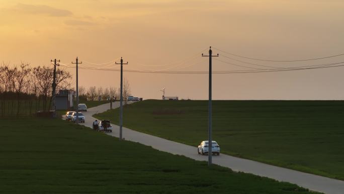
[[(32, 66), (50, 59), (80, 67), (207, 71), (209, 46), (220, 56), (214, 71), (249, 70), (222, 61), (295, 67), (344, 61), (344, 56), (301, 62), (254, 61), (317, 58), (344, 53), (344, 2), (339, 0), (237, 1), (16, 1), (0, 0), (0, 60)], [(222, 61), (219, 61), (222, 60)], [(104, 63), (104, 64), (93, 64)], [(155, 67), (154, 67), (155, 66)], [(250, 66), (254, 67), (254, 66)], [(73, 75), (75, 69), (68, 68)], [(344, 67), (216, 74), (213, 99), (344, 99)], [(79, 70), (79, 85), (119, 87), (120, 73)], [(125, 72), (134, 96), (208, 98), (208, 75)], [(75, 84), (75, 77), (73, 77)]]

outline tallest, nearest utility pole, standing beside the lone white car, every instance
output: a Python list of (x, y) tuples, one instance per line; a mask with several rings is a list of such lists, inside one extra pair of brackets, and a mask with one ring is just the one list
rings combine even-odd
[[(202, 56), (209, 56), (209, 123), (208, 123), (208, 166), (210, 166), (212, 164), (212, 119), (211, 119), (211, 57), (213, 57), (214, 55), (212, 55), (213, 51), (211, 50), (211, 46), (209, 49), (209, 55), (203, 55)], [(219, 54), (215, 55), (215, 56), (219, 56)]]

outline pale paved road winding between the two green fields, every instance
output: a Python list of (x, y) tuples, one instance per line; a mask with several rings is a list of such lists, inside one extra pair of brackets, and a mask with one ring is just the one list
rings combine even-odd
[[(115, 102), (113, 107), (119, 107), (119, 103)], [(104, 112), (109, 108), (110, 104), (103, 104), (97, 107), (89, 108), (88, 112), (84, 113), (86, 121), (82, 124), (92, 127), (92, 123), (95, 120), (95, 118), (93, 118), (92, 115), (98, 112)], [(108, 133), (108, 135), (119, 137), (119, 126), (115, 124), (112, 124), (112, 126), (113, 132)], [(139, 142), (141, 144), (151, 146), (154, 149), (161, 150), (164, 152), (184, 155), (195, 160), (208, 160), (208, 156), (202, 156), (197, 154), (197, 145), (188, 146), (185, 144), (136, 132), (125, 127), (123, 127), (123, 138), (125, 138), (125, 140)], [(200, 142), (201, 141), (202, 140), (200, 140)], [(273, 178), (279, 181), (295, 183), (299, 186), (309, 188), (314, 191), (320, 191), (328, 194), (344, 194), (344, 181), (341, 180), (276, 167), (269, 164), (264, 164), (242, 158), (236, 158), (225, 154), (221, 154), (220, 156), (214, 156), (213, 163), (218, 164), (220, 166), (231, 168), (234, 171), (252, 173), (260, 176)]]

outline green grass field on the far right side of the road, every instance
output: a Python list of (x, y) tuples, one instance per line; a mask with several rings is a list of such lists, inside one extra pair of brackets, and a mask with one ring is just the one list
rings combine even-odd
[[(96, 117), (118, 123), (118, 111)], [(208, 101), (137, 102), (125, 106), (123, 124), (197, 146), (208, 137)], [(342, 180), (343, 126), (344, 101), (213, 101), (222, 153)]]

